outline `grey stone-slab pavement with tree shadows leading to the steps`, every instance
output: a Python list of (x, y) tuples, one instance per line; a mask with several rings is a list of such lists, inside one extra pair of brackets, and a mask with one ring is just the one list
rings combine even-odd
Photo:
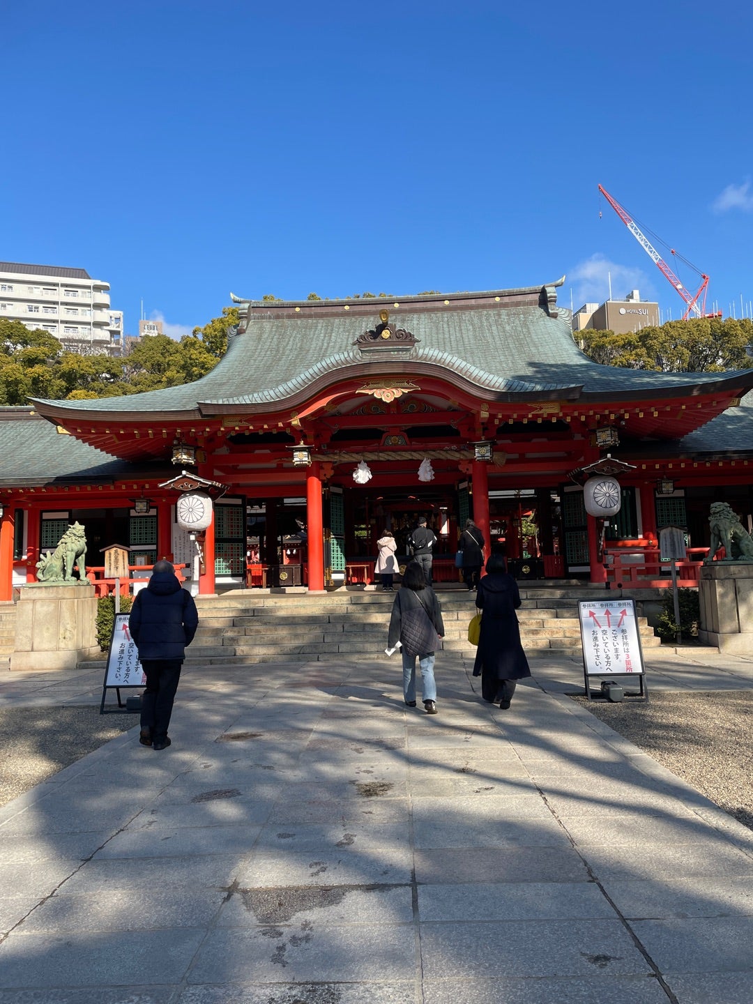
[[(753, 687), (648, 662), (650, 693)], [(0, 808), (0, 1004), (750, 1004), (753, 832), (566, 698), (575, 660), (509, 711), (468, 669), (439, 655), (437, 716), (396, 657), (186, 673), (170, 749), (135, 718)]]

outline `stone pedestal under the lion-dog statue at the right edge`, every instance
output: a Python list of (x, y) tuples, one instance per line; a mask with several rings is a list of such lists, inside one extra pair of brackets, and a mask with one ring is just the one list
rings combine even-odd
[(731, 656), (753, 652), (753, 561), (703, 565), (699, 640)]

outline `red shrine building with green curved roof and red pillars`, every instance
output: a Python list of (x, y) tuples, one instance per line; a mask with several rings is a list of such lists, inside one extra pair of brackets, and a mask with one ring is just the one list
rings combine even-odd
[[(518, 577), (606, 580), (604, 544), (656, 546), (680, 526), (708, 547), (709, 504), (753, 513), (753, 369), (600, 365), (557, 306), (564, 280), (491, 292), (300, 302), (233, 297), (241, 321), (193, 384), (0, 409), (0, 599), (40, 551), (86, 527), (132, 565), (168, 557), (194, 591), (373, 577), (386, 529), (406, 554), (425, 515), (435, 580), (457, 581), (473, 518)], [(751, 396), (753, 399), (753, 396)], [(619, 462), (621, 508), (583, 501), (583, 471)], [(176, 522), (206, 488), (202, 534)]]

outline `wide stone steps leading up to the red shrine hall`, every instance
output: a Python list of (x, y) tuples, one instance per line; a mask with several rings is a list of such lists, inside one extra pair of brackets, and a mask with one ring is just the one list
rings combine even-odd
[[(445, 650), (473, 656), (468, 621), (475, 613), (473, 595), (439, 589), (445, 621)], [(520, 589), (518, 610), (523, 647), (529, 657), (576, 656), (580, 650), (577, 600), (595, 599), (593, 589)], [(598, 596), (605, 598), (599, 591)], [(244, 665), (262, 662), (328, 662), (373, 657), (387, 645), (394, 595), (380, 591), (309, 595), (261, 590), (197, 597), (199, 631), (187, 652), (187, 666)], [(616, 598), (609, 596), (608, 598)], [(640, 617), (641, 644), (661, 645), (646, 617)]]

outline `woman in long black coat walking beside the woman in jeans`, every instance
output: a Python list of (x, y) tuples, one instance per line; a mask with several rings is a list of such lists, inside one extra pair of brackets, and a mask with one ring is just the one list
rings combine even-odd
[(492, 554), (487, 574), (479, 582), (476, 605), (481, 610), (481, 636), (473, 675), (481, 677), (485, 701), (509, 708), (518, 680), (529, 677), (528, 660), (520, 642), (515, 610), (520, 606), (518, 583), (505, 571), (505, 559)]

